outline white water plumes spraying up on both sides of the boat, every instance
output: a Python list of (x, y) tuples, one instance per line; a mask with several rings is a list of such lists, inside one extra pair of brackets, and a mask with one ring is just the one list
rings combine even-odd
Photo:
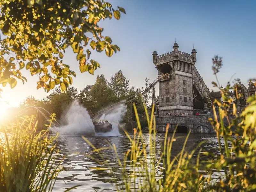
[(94, 125), (86, 108), (75, 100), (64, 118), (67, 120), (67, 125), (61, 127), (50, 127), (53, 133), (59, 132), (60, 135), (84, 135), (84, 136), (120, 136), (118, 126), (126, 113), (126, 105), (120, 104), (108, 114), (103, 114), (99, 120), (108, 120), (112, 124), (112, 130), (106, 133), (95, 133)]

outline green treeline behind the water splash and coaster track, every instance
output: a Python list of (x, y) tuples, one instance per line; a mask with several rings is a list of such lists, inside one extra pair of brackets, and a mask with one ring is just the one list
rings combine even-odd
[[(56, 120), (63, 121), (62, 114), (68, 110), (69, 106), (75, 100), (79, 100), (79, 103), (88, 110), (89, 114), (96, 113), (103, 108), (106, 108), (116, 102), (124, 100), (128, 97), (132, 97), (135, 94), (139, 94), (143, 89), (146, 89), (149, 85), (149, 79), (146, 78), (145, 86), (141, 88), (136, 88), (130, 86), (130, 80), (126, 79), (122, 71), (119, 70), (114, 76), (111, 76), (110, 82), (106, 77), (101, 74), (96, 78), (96, 82), (92, 87), (90, 94), (85, 95), (83, 91), (78, 92), (77, 88), (74, 86), (69, 86), (67, 91), (61, 92), (60, 87), (56, 87), (55, 90), (43, 100), (37, 100), (34, 96), (29, 96), (23, 102), (20, 103), (18, 108), (11, 110), (12, 114), (25, 109), (27, 107), (42, 107), (45, 108), (50, 113), (56, 114)], [(132, 97), (134, 98), (134, 96)], [(130, 99), (132, 99), (130, 98)], [(130, 100), (129, 99), (129, 100)], [(138, 114), (141, 118), (142, 126), (146, 127), (145, 110), (143, 106), (143, 100), (148, 105), (151, 104), (152, 100), (152, 90), (142, 95), (142, 97), (134, 100)], [(159, 98), (157, 97), (157, 104)], [(26, 115), (36, 115), (36, 110), (25, 110)], [(151, 106), (148, 107), (148, 111), (151, 111)], [(23, 113), (18, 113), (21, 115)], [(128, 124), (130, 119), (130, 103), (127, 104), (127, 113), (123, 118), (123, 123)], [(10, 115), (10, 114), (9, 114)], [(135, 120), (134, 112), (132, 113), (133, 120)], [(45, 119), (40, 115), (38, 119), (38, 129), (44, 129)], [(65, 123), (65, 122), (64, 122)]]

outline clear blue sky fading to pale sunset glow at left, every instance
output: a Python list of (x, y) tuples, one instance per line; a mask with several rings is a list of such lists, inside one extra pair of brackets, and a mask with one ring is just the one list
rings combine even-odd
[[(102, 35), (110, 36), (121, 52), (108, 58), (105, 52), (92, 52), (91, 58), (100, 63), (94, 75), (80, 73), (79, 63), (71, 48), (64, 54), (63, 61), (76, 72), (73, 86), (78, 91), (95, 83), (97, 75), (111, 76), (121, 69), (135, 88), (144, 86), (146, 77), (150, 82), (157, 78), (152, 53), (156, 47), (158, 55), (170, 52), (176, 42), (179, 51), (190, 53), (193, 45), (197, 51), (196, 68), (205, 84), (213, 89), (215, 81), (212, 72), (214, 55), (223, 57), (223, 67), (218, 74), (224, 87), (231, 76), (240, 78), (247, 87), (248, 80), (256, 74), (256, 1), (156, 1), (156, 0), (109, 0), (114, 8), (123, 7), (126, 14), (120, 20), (100, 22)], [(36, 89), (37, 76), (30, 75), (24, 68), (23, 76), (28, 79), (24, 85), (18, 81), (14, 89), (10, 85), (1, 87), (0, 108), (16, 107), (26, 97), (33, 95), (43, 99), (46, 93)], [(158, 94), (158, 84), (156, 85)], [(4, 104), (8, 102), (9, 104)]]

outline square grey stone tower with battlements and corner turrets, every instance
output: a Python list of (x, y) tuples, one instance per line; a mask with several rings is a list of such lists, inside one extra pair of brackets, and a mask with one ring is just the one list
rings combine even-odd
[(197, 52), (181, 52), (176, 42), (172, 48), (172, 52), (160, 56), (156, 51), (152, 54), (159, 77), (159, 116), (186, 112), (193, 115), (192, 73)]

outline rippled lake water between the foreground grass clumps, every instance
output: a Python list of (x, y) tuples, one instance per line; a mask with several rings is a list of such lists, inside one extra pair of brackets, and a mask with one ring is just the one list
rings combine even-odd
[[(131, 135), (132, 136), (132, 135)], [(143, 133), (145, 143), (149, 143), (149, 134)], [(171, 135), (169, 135), (171, 136)], [(183, 136), (182, 138), (180, 138)], [(184, 134), (177, 134), (173, 143), (172, 154), (178, 154), (185, 141)], [(130, 149), (130, 141), (126, 135), (118, 137), (86, 137), (96, 148), (107, 148), (116, 145), (119, 158)], [(161, 150), (164, 134), (156, 135), (157, 150)], [(194, 149), (201, 141), (206, 141), (204, 148), (219, 153), (218, 140), (215, 134), (191, 134), (187, 142), (187, 150)], [(102, 156), (92, 152), (93, 148), (81, 136), (59, 136), (56, 141), (60, 150), (56, 157), (62, 159), (63, 171), (58, 175), (53, 191), (65, 191), (67, 188), (82, 185), (72, 191), (116, 191), (116, 179), (122, 178), (122, 169), (118, 165), (115, 151), (104, 149)], [(99, 168), (104, 168), (99, 170)]]

